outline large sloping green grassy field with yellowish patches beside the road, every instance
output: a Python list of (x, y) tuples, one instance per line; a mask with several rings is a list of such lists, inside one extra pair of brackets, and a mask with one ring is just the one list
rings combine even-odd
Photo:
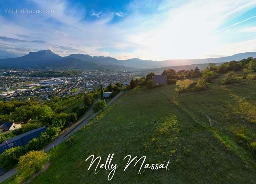
[[(125, 93), (73, 135), (72, 147), (51, 150), (50, 167), (31, 183), (107, 183), (110, 171), (87, 171), (85, 159), (94, 154), (104, 163), (109, 153), (118, 165), (109, 183), (255, 183), (255, 157), (238, 134), (256, 140), (256, 82), (224, 86), (222, 78), (200, 92), (178, 94), (166, 85)], [(126, 155), (170, 160), (170, 170), (139, 175), (138, 164), (123, 171)]]

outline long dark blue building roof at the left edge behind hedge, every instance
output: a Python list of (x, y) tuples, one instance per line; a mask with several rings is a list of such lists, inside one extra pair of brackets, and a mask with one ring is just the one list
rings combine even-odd
[(34, 138), (38, 138), (42, 132), (46, 130), (46, 127), (36, 128), (34, 130), (28, 131), (24, 134), (17, 135), (16, 137), (12, 137), (8, 140), (5, 140), (0, 144), (0, 154), (2, 154), (5, 150), (9, 148), (14, 148), (17, 146), (25, 146)]

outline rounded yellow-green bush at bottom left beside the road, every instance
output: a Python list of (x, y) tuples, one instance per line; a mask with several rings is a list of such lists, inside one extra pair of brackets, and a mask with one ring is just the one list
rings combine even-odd
[(43, 151), (30, 151), (26, 155), (20, 157), (18, 163), (17, 182), (24, 180), (33, 173), (41, 171), (43, 165), (48, 162), (47, 153)]

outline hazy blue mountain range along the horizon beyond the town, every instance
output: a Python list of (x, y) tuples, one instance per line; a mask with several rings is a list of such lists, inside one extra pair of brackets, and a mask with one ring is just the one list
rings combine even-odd
[(73, 69), (116, 69), (116, 68), (160, 68), (168, 66), (193, 65), (205, 63), (223, 63), (232, 60), (241, 60), (247, 57), (256, 57), (256, 52), (244, 52), (227, 57), (204, 59), (170, 59), (164, 61), (142, 60), (132, 58), (118, 60), (113, 57), (90, 56), (88, 54), (71, 54), (61, 57), (51, 50), (29, 52), (25, 56), (0, 59), (1, 68), (73, 68)]

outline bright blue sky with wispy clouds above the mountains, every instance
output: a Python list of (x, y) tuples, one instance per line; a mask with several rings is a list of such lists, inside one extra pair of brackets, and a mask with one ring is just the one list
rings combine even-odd
[(0, 58), (45, 49), (150, 60), (256, 51), (256, 0), (0, 0)]

